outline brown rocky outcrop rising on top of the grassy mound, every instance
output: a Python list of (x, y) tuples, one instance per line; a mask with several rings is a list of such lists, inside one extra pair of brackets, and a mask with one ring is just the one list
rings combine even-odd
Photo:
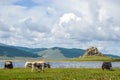
[(90, 47), (86, 49), (84, 56), (103, 56), (103, 54), (96, 47)]

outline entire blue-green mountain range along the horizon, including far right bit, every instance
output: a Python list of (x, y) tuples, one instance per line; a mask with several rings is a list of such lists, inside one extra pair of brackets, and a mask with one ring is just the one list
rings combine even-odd
[[(0, 43), (0, 56), (6, 57), (32, 57), (32, 58), (46, 58), (46, 59), (65, 59), (65, 58), (78, 58), (83, 56), (84, 49), (68, 49), (68, 48), (27, 48), (19, 46), (9, 46)], [(120, 56), (112, 54), (104, 54), (112, 58), (120, 58)]]

